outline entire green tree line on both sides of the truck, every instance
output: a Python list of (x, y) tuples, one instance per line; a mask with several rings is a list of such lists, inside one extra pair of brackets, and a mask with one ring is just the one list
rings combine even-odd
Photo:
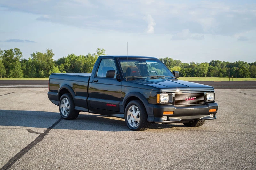
[[(105, 50), (97, 48), (96, 53), (87, 55), (68, 54), (54, 60), (52, 49), (46, 52), (32, 53), (24, 59), (18, 48), (0, 49), (0, 77), (1, 78), (32, 78), (49, 77), (51, 73), (90, 73), (97, 58), (106, 55)], [(172, 58), (160, 58), (171, 70), (179, 71), (180, 77), (237, 77), (256, 78), (256, 61), (225, 62), (212, 60), (209, 63), (182, 63)]]

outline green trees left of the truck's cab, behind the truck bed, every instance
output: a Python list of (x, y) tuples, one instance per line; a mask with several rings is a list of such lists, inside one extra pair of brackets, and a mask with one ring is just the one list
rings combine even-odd
[(54, 55), (52, 49), (46, 49), (45, 53), (32, 53), (31, 57), (24, 59), (18, 48), (0, 50), (0, 78), (49, 77), (51, 73), (90, 73), (97, 58), (106, 54), (103, 48), (97, 48), (93, 54), (68, 54), (57, 60), (53, 60)]

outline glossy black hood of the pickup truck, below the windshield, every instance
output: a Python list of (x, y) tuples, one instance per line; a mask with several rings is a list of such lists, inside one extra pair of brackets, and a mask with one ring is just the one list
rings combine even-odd
[(134, 79), (131, 82), (140, 85), (148, 85), (160, 89), (162, 92), (179, 91), (214, 91), (214, 88), (208, 85), (193, 83), (189, 81), (173, 79)]

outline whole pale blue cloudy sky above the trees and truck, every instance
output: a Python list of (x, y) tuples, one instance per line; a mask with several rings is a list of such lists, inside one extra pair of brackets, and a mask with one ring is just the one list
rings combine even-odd
[(0, 48), (256, 61), (256, 1), (1, 0)]

